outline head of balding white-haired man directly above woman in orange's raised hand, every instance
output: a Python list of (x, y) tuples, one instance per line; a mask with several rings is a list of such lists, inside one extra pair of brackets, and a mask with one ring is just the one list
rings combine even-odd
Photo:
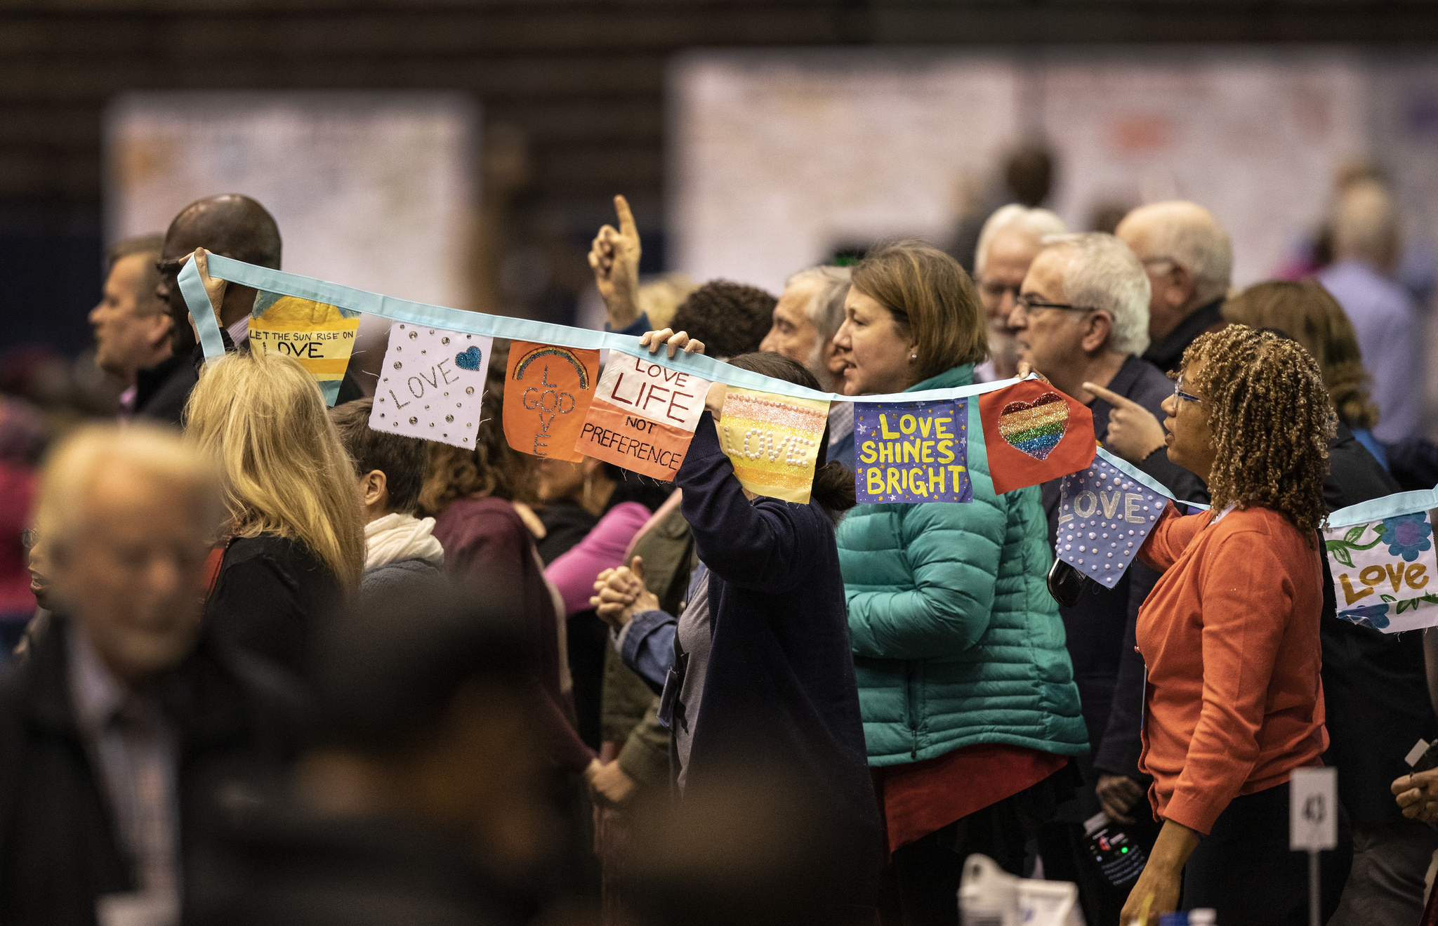
[(1143, 359), (1178, 370), (1183, 351), (1205, 331), (1224, 326), (1234, 249), (1228, 232), (1202, 206), (1140, 206), (1114, 229), (1149, 275), (1149, 349)]

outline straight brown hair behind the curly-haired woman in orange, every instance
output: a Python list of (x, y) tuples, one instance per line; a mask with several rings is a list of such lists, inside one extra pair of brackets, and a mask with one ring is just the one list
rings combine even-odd
[(1307, 279), (1250, 286), (1224, 303), (1224, 318), (1254, 328), (1277, 328), (1301, 344), (1319, 361), (1339, 420), (1356, 428), (1378, 424), (1378, 405), (1368, 391), (1369, 375), (1353, 324), (1322, 283)]

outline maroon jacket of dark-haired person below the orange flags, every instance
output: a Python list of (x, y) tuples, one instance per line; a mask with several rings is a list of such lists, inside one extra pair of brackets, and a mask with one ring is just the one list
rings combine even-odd
[(545, 582), (529, 528), (503, 499), (459, 499), (434, 519), (434, 536), (444, 546), (444, 571), (462, 585), (518, 588), (536, 650), (539, 683), (554, 709), (554, 759), (561, 768), (584, 769), (594, 752), (575, 730), (574, 699), (561, 683), (564, 613), (557, 610)]

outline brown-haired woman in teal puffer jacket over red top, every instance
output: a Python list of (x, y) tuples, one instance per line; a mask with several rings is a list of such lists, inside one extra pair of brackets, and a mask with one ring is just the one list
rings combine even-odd
[[(854, 267), (834, 338), (844, 394), (968, 385), (986, 355), (974, 283), (922, 243)], [(968, 403), (969, 503), (860, 505), (838, 528), (869, 765), (893, 866), (894, 920), (952, 925), (963, 858), (1018, 873), (1087, 752), (1038, 486), (994, 493)], [(857, 450), (863, 473), (866, 449)], [(873, 459), (870, 456), (870, 459)], [(886, 922), (890, 922), (886, 916)]]

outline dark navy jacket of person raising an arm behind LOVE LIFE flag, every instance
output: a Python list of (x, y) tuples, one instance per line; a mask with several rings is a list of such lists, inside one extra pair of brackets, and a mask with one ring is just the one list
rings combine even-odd
[(827, 899), (871, 906), (881, 834), (834, 525), (817, 500), (746, 499), (707, 411), (674, 485), (709, 567), (712, 637), (684, 798), (723, 788), (735, 764), (801, 781), (833, 837)]

